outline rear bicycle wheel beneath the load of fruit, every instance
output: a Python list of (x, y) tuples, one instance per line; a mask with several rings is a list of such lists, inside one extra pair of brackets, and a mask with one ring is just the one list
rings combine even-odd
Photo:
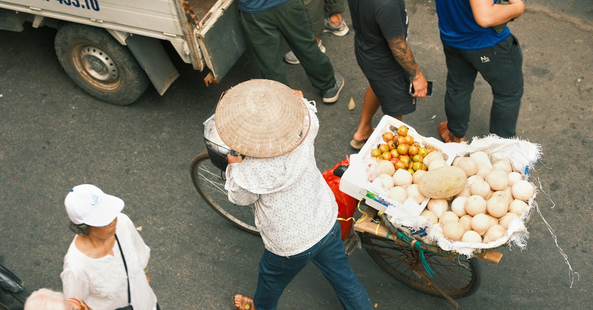
[[(417, 275), (423, 269), (419, 265), (420, 261), (412, 255), (409, 245), (399, 245), (371, 233), (362, 233), (361, 241), (366, 252), (391, 276), (413, 289), (442, 297), (435, 287)], [(465, 255), (447, 257), (428, 251), (424, 255), (428, 265), (435, 271), (431, 281), (440, 284), (449, 296), (461, 298), (476, 292), (480, 285), (476, 260), (468, 260)]]

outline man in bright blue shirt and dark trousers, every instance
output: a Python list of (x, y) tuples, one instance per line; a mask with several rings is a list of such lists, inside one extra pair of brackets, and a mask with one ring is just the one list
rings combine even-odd
[(438, 127), (445, 142), (466, 141), (470, 99), (477, 72), (492, 88), (490, 133), (516, 134), (523, 95), (523, 55), (506, 23), (525, 10), (521, 0), (436, 0), (436, 14), (447, 63), (445, 113)]

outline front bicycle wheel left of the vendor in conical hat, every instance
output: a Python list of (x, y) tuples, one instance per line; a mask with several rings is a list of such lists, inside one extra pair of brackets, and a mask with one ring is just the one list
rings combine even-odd
[(197, 192), (216, 213), (240, 229), (260, 235), (255, 226), (253, 204), (237, 205), (228, 201), (227, 191), (224, 189), (224, 171), (212, 165), (208, 152), (197, 154), (192, 160), (191, 173)]

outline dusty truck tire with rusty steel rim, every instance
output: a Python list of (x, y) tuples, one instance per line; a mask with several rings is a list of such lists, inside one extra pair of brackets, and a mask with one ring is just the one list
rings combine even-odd
[(65, 24), (58, 30), (54, 46), (66, 74), (101, 101), (129, 105), (148, 87), (146, 72), (130, 50), (104, 29)]

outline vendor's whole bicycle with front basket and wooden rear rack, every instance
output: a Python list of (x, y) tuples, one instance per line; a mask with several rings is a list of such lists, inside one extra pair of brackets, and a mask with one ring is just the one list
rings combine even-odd
[[(192, 182), (200, 196), (216, 213), (234, 226), (253, 235), (259, 235), (254, 224), (253, 205), (235, 205), (228, 201), (225, 185), (227, 154), (232, 151), (205, 138), (206, 151), (192, 161)], [(357, 220), (353, 229), (358, 232), (362, 248), (388, 274), (413, 289), (448, 300), (455, 308), (454, 298), (470, 296), (480, 286), (480, 267), (477, 259), (498, 263), (502, 253), (495, 249), (474, 251), (467, 258), (455, 251), (445, 251), (438, 245), (417, 240), (387, 219), (384, 213), (367, 206), (364, 216)], [(360, 210), (360, 208), (359, 208)], [(533, 217), (535, 208), (525, 219), (525, 226)], [(377, 216), (375, 216), (377, 214)], [(344, 240), (346, 252), (353, 249), (352, 238)]]

